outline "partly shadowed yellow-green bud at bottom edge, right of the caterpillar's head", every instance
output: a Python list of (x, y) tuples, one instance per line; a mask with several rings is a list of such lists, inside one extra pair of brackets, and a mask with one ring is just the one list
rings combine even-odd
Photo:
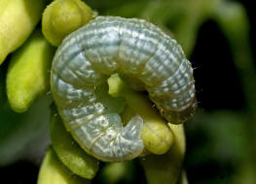
[(180, 178), (185, 154), (183, 125), (169, 124), (174, 143), (165, 155), (148, 155), (141, 159), (148, 184), (176, 184)]

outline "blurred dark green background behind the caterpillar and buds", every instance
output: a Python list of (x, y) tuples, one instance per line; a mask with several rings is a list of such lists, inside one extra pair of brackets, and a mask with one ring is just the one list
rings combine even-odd
[[(185, 123), (184, 168), (189, 183), (256, 183), (253, 1), (85, 2), (99, 15), (148, 19), (184, 48), (194, 68), (199, 106), (195, 116)], [(50, 95), (39, 99), (26, 114), (13, 112), (4, 92), (7, 67), (8, 62), (0, 67), (0, 178), (8, 183), (36, 183), (45, 148), (50, 144)], [(145, 183), (139, 166), (134, 174), (140, 178), (139, 183)]]

